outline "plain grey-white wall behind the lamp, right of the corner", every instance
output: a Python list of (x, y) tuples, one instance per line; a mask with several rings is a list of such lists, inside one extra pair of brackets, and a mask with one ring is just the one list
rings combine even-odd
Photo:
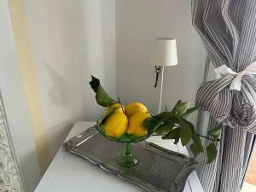
[(144, 102), (151, 113), (160, 92), (148, 65), (157, 37), (177, 38), (178, 66), (165, 68), (162, 107), (178, 99), (194, 102), (206, 53), (191, 23), (190, 0), (116, 1), (117, 94), (125, 103)]

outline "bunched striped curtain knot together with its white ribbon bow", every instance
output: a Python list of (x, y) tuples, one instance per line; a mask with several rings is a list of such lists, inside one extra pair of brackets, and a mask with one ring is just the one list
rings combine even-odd
[(216, 68), (215, 72), (218, 79), (201, 84), (195, 105), (211, 113), (219, 123), (255, 132), (256, 61), (240, 73), (226, 65)]

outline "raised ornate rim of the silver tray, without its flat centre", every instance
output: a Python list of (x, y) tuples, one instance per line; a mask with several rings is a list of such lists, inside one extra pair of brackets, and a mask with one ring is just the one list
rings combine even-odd
[[(159, 189), (157, 186), (154, 186), (154, 184), (148, 183), (146, 181), (143, 181), (142, 178), (134, 177), (131, 174), (126, 174), (122, 170), (118, 168), (118, 166), (114, 167), (111, 165), (108, 165), (107, 163), (103, 162), (102, 160), (98, 160), (96, 157), (93, 157), (89, 154), (85, 154), (85, 152), (79, 150), (79, 148), (76, 148), (81, 143), (86, 142), (86, 140), (90, 139), (91, 137), (96, 136), (97, 134), (100, 134), (98, 131), (96, 131), (95, 126), (91, 126), (90, 128), (86, 129), (82, 133), (76, 135), (75, 137), (70, 138), (66, 143), (63, 143), (63, 147), (67, 149), (67, 151), (71, 152), (72, 154), (78, 154), (79, 156), (83, 157), (85, 160), (88, 160), (90, 163), (99, 166), (102, 168), (102, 170), (110, 172), (118, 177), (121, 177), (125, 180), (130, 181), (131, 183), (135, 183), (141, 188), (149, 191), (149, 192), (183, 192), (183, 189), (185, 187), (185, 183), (190, 175), (191, 172), (195, 170), (195, 166), (197, 165), (197, 161), (194, 158), (188, 157), (184, 154), (179, 154), (175, 151), (162, 148), (157, 144), (149, 143), (146, 141), (140, 142), (140, 143), (134, 143), (135, 145), (144, 148), (145, 150), (149, 150), (150, 152), (158, 155), (164, 155), (165, 158), (169, 158), (172, 160), (170, 154), (176, 155), (177, 157), (183, 158), (183, 169), (186, 168), (187, 172), (183, 176), (183, 180), (178, 181), (178, 189), (169, 191)], [(106, 138), (105, 138), (106, 139)], [(113, 141), (112, 141), (113, 142)], [(168, 156), (169, 154), (169, 156)], [(184, 167), (185, 166), (185, 167)], [(181, 176), (180, 176), (181, 177)]]

